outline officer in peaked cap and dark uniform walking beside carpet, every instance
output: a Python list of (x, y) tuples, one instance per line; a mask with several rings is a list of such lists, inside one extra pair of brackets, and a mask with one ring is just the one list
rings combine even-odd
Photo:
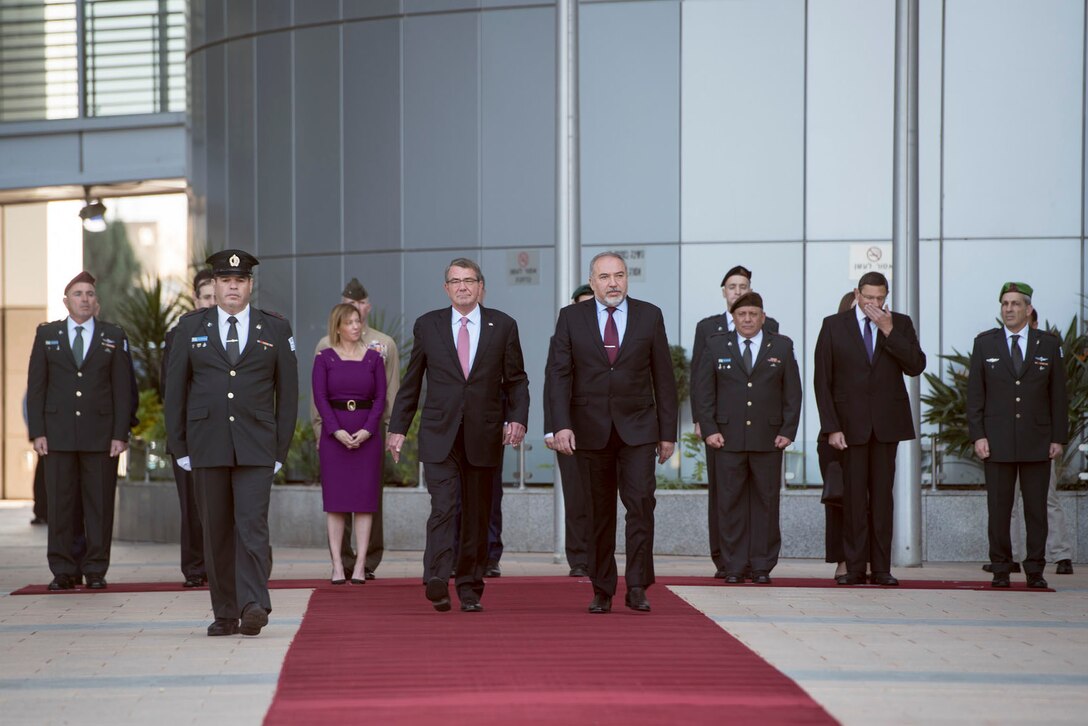
[(196, 485), (215, 616), (208, 635), (256, 636), (272, 610), (269, 497), (295, 432), (298, 362), (290, 323), (249, 305), (257, 258), (225, 249), (208, 264), (217, 305), (177, 323), (166, 433)]

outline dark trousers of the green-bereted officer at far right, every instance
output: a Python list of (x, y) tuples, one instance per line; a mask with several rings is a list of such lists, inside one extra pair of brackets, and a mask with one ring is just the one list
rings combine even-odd
[(1024, 497), (1024, 525), (1027, 549), (1026, 575), (1042, 575), (1047, 564), (1047, 492), (1050, 488), (1050, 462), (986, 462), (986, 505), (989, 513), (990, 563), (993, 573), (1009, 574), (1013, 543), (1009, 525), (1013, 512), (1013, 490), (1019, 475)]

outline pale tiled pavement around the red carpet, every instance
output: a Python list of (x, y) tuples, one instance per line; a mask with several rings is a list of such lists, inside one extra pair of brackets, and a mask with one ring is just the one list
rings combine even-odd
[[(206, 592), (9, 596), (49, 579), (46, 531), (30, 527), (29, 518), (28, 504), (0, 502), (0, 723), (261, 722), (309, 591), (274, 591), (272, 619), (259, 638), (206, 637)], [(178, 580), (176, 561), (173, 545), (114, 543), (109, 579)], [(830, 577), (829, 568), (790, 561), (775, 575)], [(508, 554), (503, 569), (505, 577), (566, 573), (548, 554)], [(706, 575), (708, 563), (659, 557), (657, 569)], [(324, 551), (275, 551), (275, 578), (326, 577), (327, 570)], [(386, 552), (379, 576), (421, 571), (420, 553)], [(986, 578), (977, 563), (897, 574)], [(676, 591), (846, 724), (1083, 724), (1088, 565), (1073, 576), (1048, 573), (1048, 579), (1059, 592)]]

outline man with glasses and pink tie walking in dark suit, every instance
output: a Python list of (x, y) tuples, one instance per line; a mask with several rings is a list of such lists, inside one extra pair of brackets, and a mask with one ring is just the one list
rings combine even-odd
[[(482, 279), (480, 266), (472, 260), (457, 258), (446, 268), (445, 291), (453, 306), (416, 320), (411, 356), (386, 438), (387, 448), (399, 462), (425, 376), (419, 458), (431, 493), (431, 516), (423, 577), (426, 599), (440, 612), (450, 606), (449, 573), (455, 564), (461, 610), (483, 610), (480, 599), (494, 469), (502, 460), (503, 446), (518, 445), (524, 439), (529, 420), (529, 379), (518, 323), (505, 312), (480, 305)], [(456, 563), (455, 538), (459, 538)]]

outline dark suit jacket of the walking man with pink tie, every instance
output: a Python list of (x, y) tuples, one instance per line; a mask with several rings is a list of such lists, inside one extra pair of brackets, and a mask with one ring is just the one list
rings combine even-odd
[(452, 327), (452, 308), (421, 315), (412, 329), (411, 357), (400, 380), (390, 433), (406, 433), (419, 406), (426, 374), (426, 397), (420, 414), (419, 458), (443, 462), (465, 424), (465, 452), (473, 466), (498, 466), (503, 423), (527, 426), (529, 378), (526, 376), (514, 318), (480, 306), (480, 340), (468, 379), (461, 372)]

